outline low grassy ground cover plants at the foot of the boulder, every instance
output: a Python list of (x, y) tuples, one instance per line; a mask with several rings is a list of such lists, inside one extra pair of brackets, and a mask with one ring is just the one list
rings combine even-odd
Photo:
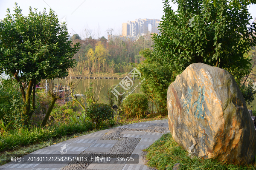
[[(215, 159), (202, 159), (189, 156), (188, 152), (177, 144), (171, 133), (164, 134), (155, 141), (147, 151), (148, 165), (158, 170), (172, 170), (176, 163), (180, 163), (180, 170), (255, 170), (256, 161), (246, 165), (225, 164)], [(255, 158), (256, 159), (256, 158)]]

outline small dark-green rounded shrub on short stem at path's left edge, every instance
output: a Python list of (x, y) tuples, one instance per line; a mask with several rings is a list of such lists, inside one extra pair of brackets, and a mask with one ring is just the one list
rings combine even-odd
[(91, 104), (85, 110), (86, 116), (93, 123), (93, 128), (101, 127), (104, 120), (113, 118), (113, 110), (109, 105), (106, 104)]

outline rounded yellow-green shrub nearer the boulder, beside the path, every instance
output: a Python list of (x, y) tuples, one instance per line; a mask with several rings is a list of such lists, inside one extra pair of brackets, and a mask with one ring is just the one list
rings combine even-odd
[(122, 104), (126, 117), (140, 118), (148, 110), (148, 97), (144, 94), (130, 94)]

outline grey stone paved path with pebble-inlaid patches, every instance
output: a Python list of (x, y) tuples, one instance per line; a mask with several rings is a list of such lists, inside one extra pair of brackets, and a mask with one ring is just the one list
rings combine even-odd
[(9, 162), (1, 166), (0, 170), (149, 170), (149, 167), (142, 160), (143, 150), (159, 139), (164, 133), (169, 132), (168, 119), (141, 122), (79, 136), (26, 155), (61, 154), (61, 147), (64, 147), (66, 144), (66, 150), (64, 151), (67, 151), (67, 153), (64, 155), (94, 154), (104, 156), (138, 154), (138, 164), (81, 163), (81, 161), (65, 164), (43, 164), (40, 161), (33, 164)]

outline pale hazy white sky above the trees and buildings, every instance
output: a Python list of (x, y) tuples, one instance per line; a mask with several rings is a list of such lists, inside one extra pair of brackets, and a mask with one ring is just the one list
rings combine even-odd
[[(106, 30), (113, 28), (116, 35), (122, 34), (122, 23), (137, 18), (161, 19), (163, 16), (163, 0), (0, 0), (0, 19), (5, 18), (6, 9), (13, 14), (14, 3), (29, 13), (29, 6), (43, 11), (52, 8), (59, 20), (65, 20), (70, 35), (79, 34), (86, 37), (84, 29), (93, 30), (93, 37), (105, 36)], [(177, 9), (176, 4), (172, 4)], [(256, 17), (256, 5), (249, 7), (253, 18)]]

